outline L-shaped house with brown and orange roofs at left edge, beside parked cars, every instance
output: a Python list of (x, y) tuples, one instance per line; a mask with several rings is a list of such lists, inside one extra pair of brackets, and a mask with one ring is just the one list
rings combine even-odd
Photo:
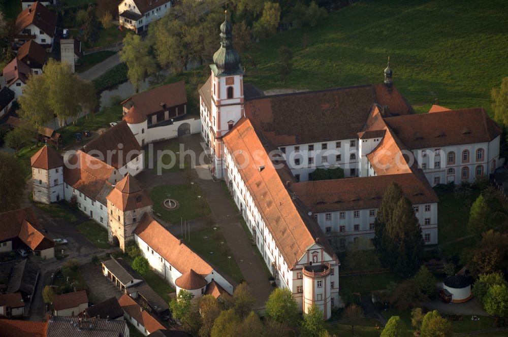
[(0, 214), (0, 252), (29, 247), (34, 255), (50, 259), (54, 257), (54, 246), (30, 208)]

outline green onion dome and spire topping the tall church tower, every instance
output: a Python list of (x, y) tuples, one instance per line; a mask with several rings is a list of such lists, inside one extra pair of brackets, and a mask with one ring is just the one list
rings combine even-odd
[(213, 54), (211, 65), (215, 76), (243, 74), (240, 68), (240, 55), (233, 48), (233, 26), (226, 20), (220, 25), (220, 48)]

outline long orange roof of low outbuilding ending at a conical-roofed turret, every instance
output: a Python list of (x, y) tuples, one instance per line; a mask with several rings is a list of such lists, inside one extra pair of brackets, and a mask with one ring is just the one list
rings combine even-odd
[(182, 274), (193, 268), (196, 273), (206, 277), (213, 271), (208, 262), (182, 243), (180, 239), (177, 239), (148, 213), (143, 215), (134, 233)]

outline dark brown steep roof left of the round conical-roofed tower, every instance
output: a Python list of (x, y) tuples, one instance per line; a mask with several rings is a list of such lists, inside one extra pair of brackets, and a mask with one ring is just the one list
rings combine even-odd
[(81, 148), (116, 169), (125, 166), (141, 154), (141, 146), (127, 122), (121, 121)]

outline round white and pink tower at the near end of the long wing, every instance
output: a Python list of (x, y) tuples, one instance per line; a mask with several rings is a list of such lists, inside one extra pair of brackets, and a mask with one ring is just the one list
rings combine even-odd
[(328, 262), (309, 264), (302, 268), (304, 313), (308, 312), (310, 306), (316, 305), (323, 312), (325, 319), (331, 317), (330, 271)]

